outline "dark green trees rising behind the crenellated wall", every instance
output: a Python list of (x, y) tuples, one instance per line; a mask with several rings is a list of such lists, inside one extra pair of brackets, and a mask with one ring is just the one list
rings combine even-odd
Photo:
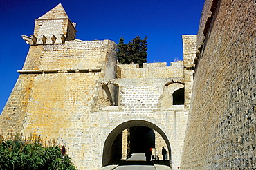
[(120, 63), (138, 63), (142, 67), (143, 63), (147, 62), (147, 36), (140, 39), (140, 36), (137, 35), (128, 44), (125, 44), (123, 37), (121, 37), (117, 55)]

